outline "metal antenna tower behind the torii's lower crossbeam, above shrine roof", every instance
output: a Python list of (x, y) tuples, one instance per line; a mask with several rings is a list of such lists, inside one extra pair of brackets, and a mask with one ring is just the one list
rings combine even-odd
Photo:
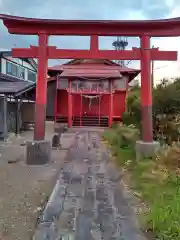
[[(126, 47), (128, 46), (127, 37), (117, 37), (116, 41), (114, 41), (112, 45), (116, 51), (125, 50)], [(124, 60), (116, 60), (115, 62), (122, 67), (125, 66)]]

